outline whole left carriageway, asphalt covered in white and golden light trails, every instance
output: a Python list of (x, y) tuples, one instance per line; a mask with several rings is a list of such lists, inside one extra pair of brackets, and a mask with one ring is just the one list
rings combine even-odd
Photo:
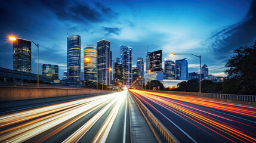
[(0, 113), (0, 142), (130, 142), (127, 92)]

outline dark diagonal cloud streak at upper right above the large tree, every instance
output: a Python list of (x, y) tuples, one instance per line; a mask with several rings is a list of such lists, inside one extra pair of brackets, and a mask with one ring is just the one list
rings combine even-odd
[[(246, 45), (256, 39), (256, 0), (252, 0), (251, 6), (245, 18), (239, 23), (228, 26), (207, 39), (209, 47), (218, 58), (227, 58), (230, 52), (239, 46)], [(221, 54), (220, 54), (221, 53)]]

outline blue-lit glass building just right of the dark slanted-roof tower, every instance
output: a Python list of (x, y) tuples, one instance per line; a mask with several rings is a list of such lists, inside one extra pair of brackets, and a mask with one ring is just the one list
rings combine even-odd
[(165, 60), (165, 79), (175, 78), (175, 63), (172, 60)]

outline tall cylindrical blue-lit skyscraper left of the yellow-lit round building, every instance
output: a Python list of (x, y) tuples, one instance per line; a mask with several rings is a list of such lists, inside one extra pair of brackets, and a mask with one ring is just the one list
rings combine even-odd
[(81, 37), (67, 37), (67, 79), (81, 79)]

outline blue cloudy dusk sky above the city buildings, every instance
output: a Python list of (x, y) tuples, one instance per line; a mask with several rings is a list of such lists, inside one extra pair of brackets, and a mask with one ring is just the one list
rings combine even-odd
[[(236, 1), (232, 2), (232, 5), (229, 5), (229, 7), (226, 7), (226, 5), (228, 5), (230, 1), (216, 2), (216, 4), (212, 4), (212, 2), (195, 2), (195, 4), (192, 4), (187, 1), (149, 1), (147, 3), (134, 1), (106, 2), (108, 3), (107, 6), (104, 5), (104, 2), (93, 3), (76, 1), (75, 4), (81, 4), (82, 7), (87, 5), (89, 10), (93, 10), (92, 13), (94, 13), (94, 15), (92, 14), (91, 17), (82, 15), (81, 17), (78, 17), (81, 18), (80, 21), (79, 19), (76, 19), (78, 22), (75, 23), (75, 19), (72, 17), (72, 14), (78, 13), (76, 11), (72, 11), (70, 8), (71, 6), (66, 6), (66, 10), (53, 10), (52, 8), (54, 4), (47, 5), (47, 2), (39, 1), (41, 6), (36, 7), (41, 7), (44, 10), (49, 8), (52, 10), (49, 11), (50, 16), (47, 17), (47, 14), (41, 13), (39, 14), (42, 19), (40, 21), (41, 24), (35, 22), (33, 24), (19, 23), (19, 25), (13, 22), (18, 20), (17, 16), (12, 16), (17, 13), (15, 13), (15, 11), (10, 12), (10, 10), (7, 10), (5, 7), (8, 7), (10, 3), (3, 2), (1, 5), (1, 9), (3, 10), (1, 17), (4, 17), (7, 13), (10, 14), (10, 17), (1, 23), (2, 34), (0, 46), (2, 53), (0, 67), (12, 69), (12, 66), (10, 65), (13, 61), (11, 57), (12, 44), (6, 39), (8, 35), (16, 35), (17, 38), (24, 38), (39, 43), (39, 64), (49, 63), (59, 65), (60, 77), (62, 77), (63, 71), (66, 70), (65, 67), (67, 66), (65, 62), (66, 50), (64, 49), (66, 49), (66, 32), (69, 32), (70, 35), (81, 35), (81, 46), (88, 44), (96, 45), (96, 42), (100, 39), (107, 39), (112, 42), (113, 59), (119, 57), (120, 44), (132, 46), (134, 48), (134, 58), (132, 59), (134, 64), (132, 67), (135, 67), (135, 62), (138, 57), (143, 57), (144, 60), (146, 60), (146, 49), (147, 46), (149, 46), (149, 51), (162, 49), (163, 59), (167, 58), (168, 60), (175, 61), (187, 58), (189, 62), (189, 73), (193, 71), (199, 72), (199, 60), (196, 57), (184, 57), (181, 55), (169, 57), (168, 54), (170, 52), (192, 52), (193, 54), (201, 55), (202, 65), (208, 65), (209, 74), (213, 73), (218, 76), (223, 75), (223, 71), (225, 69), (224, 64), (230, 54), (232, 54), (232, 49), (238, 48), (246, 43), (252, 43), (255, 38), (255, 32), (252, 32), (251, 35), (246, 35), (246, 32), (248, 33), (248, 29), (245, 29), (245, 26), (250, 27), (250, 23), (255, 21), (255, 1)], [(240, 5), (241, 2), (243, 2), (242, 5)], [(171, 7), (165, 7), (167, 4), (171, 5)], [(19, 5), (23, 5), (24, 7), (18, 7)], [(13, 5), (13, 7), (19, 11), (24, 11), (23, 8), (30, 7), (30, 5), (32, 4), (20, 4), (17, 2), (17, 5)], [(126, 7), (127, 5), (132, 5), (134, 9)], [(145, 7), (141, 7), (141, 5)], [(209, 10), (206, 10), (209, 5), (215, 5), (217, 9), (209, 8)], [(198, 7), (202, 7), (202, 10), (198, 10)], [(149, 8), (151, 8), (152, 11), (149, 11)], [(103, 13), (106, 9), (108, 10), (107, 13)], [(119, 13), (118, 11), (121, 9), (124, 9), (124, 11)], [(181, 13), (180, 10), (184, 9), (187, 9), (187, 11)], [(67, 14), (66, 17), (57, 13), (63, 12), (63, 14), (65, 14), (67, 13), (67, 10), (70, 10), (70, 13), (72, 14)], [(202, 14), (201, 12), (205, 13)], [(163, 13), (163, 15), (158, 17), (161, 13)], [(188, 13), (190, 13), (190, 15)], [(34, 13), (30, 14), (29, 11), (24, 11), (19, 15), (26, 14), (28, 14), (27, 17), (30, 16), (27, 18), (28, 21), (34, 21), (32, 20)], [(127, 14), (127, 17), (125, 14)], [(169, 16), (169, 18), (167, 18), (167, 16)], [(101, 17), (106, 17), (107, 19), (100, 19)], [(45, 20), (45, 18), (50, 20)], [(152, 20), (154, 18), (157, 18), (154, 21), (158, 22), (153, 22)], [(113, 19), (116, 19), (118, 23)], [(55, 21), (56, 24), (50, 25), (48, 21)], [(71, 22), (69, 23), (68, 21)], [(149, 24), (145, 26), (142, 21)], [(188, 21), (190, 24), (185, 24)], [(93, 25), (95, 24), (95, 26), (92, 26), (92, 23)], [(159, 26), (156, 26), (158, 24)], [(39, 25), (41, 25), (41, 27)], [(85, 25), (87, 26), (86, 29), (84, 28)], [(143, 27), (141, 29), (143, 32), (141, 32), (140, 27)], [(234, 32), (232, 30), (235, 28), (238, 29), (238, 32)], [(53, 32), (53, 29), (55, 32)], [(241, 34), (241, 29), (245, 33), (244, 38), (240, 38), (236, 43), (227, 43), (226, 45), (219, 47), (221, 43), (224, 43), (229, 39), (236, 41), (235, 38)], [(254, 31), (255, 27), (251, 27), (250, 30)], [(227, 36), (229, 33), (231, 36)], [(225, 38), (225, 36), (227, 36), (227, 38)], [(194, 40), (193, 38), (198, 39)], [(218, 43), (218, 45), (212, 45), (212, 42), (214, 41), (215, 43)], [(208, 43), (208, 45), (206, 43)], [(50, 53), (48, 52), (49, 49), (52, 50)], [(36, 73), (35, 45), (32, 45), (31, 50), (32, 73)], [(209, 52), (207, 56), (205, 56), (206, 52)], [(81, 56), (81, 59), (83, 59), (83, 56)], [(7, 61), (7, 63), (5, 61)], [(163, 62), (164, 60), (162, 63)], [(144, 66), (146, 65), (144, 64)], [(81, 64), (81, 67), (84, 67), (84, 65)], [(41, 70), (42, 69), (39, 69), (39, 73), (42, 73)], [(84, 69), (81, 68), (81, 70), (83, 71)]]

